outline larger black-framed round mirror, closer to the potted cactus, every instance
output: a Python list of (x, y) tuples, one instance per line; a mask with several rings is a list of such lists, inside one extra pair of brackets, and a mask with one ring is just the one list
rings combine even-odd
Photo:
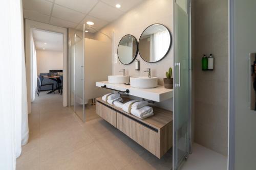
[(139, 54), (146, 62), (154, 63), (162, 60), (172, 46), (170, 31), (161, 24), (147, 27), (140, 36)]

